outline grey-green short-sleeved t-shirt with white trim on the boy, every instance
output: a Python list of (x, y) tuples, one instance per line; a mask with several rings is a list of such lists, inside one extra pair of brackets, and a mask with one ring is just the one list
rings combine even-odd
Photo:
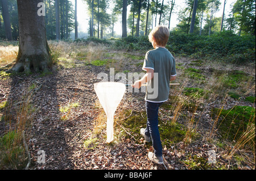
[(175, 60), (166, 48), (156, 48), (146, 53), (143, 70), (153, 69), (154, 77), (147, 83), (149, 102), (166, 102), (170, 92), (170, 77), (176, 75)]

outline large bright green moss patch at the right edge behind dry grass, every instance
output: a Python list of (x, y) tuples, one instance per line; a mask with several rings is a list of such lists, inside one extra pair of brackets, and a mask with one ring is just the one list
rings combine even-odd
[(231, 141), (240, 138), (249, 123), (255, 124), (255, 108), (253, 107), (235, 106), (230, 110), (213, 108), (212, 113), (213, 115), (220, 114), (218, 132), (223, 138)]

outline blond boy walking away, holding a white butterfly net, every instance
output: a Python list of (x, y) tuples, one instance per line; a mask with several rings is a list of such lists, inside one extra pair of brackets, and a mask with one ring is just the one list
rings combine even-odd
[(159, 106), (168, 100), (170, 81), (176, 79), (174, 57), (165, 48), (169, 36), (170, 31), (164, 26), (157, 26), (150, 32), (148, 39), (155, 49), (146, 53), (142, 69), (147, 73), (133, 85), (139, 89), (142, 84), (147, 83), (145, 97), (147, 127), (141, 129), (141, 134), (148, 142), (151, 137), (154, 153), (149, 152), (148, 158), (158, 164), (163, 164), (162, 143), (158, 130), (158, 110)]

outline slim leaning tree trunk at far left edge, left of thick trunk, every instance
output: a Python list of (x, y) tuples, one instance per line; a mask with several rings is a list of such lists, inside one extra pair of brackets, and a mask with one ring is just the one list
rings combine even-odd
[(11, 21), (10, 21), (10, 14), (9, 14), (7, 0), (2, 0), (2, 15), (3, 15), (3, 24), (5, 24), (6, 39), (11, 41), (13, 40), (13, 35), (11, 35)]

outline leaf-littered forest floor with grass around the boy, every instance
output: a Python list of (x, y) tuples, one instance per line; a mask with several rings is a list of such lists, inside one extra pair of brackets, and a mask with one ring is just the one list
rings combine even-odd
[[(217, 130), (217, 121), (223, 117), (212, 111), (235, 106), (255, 109), (255, 101), (246, 101), (248, 96), (255, 99), (255, 65), (220, 65), (175, 57), (175, 82), (180, 86), (172, 87), (170, 100), (159, 110), (164, 165), (157, 165), (147, 157), (152, 143), (139, 134), (146, 125), (140, 122), (146, 118), (144, 93), (125, 93), (115, 112), (114, 141), (108, 144), (106, 115), (93, 86), (101, 81), (98, 74), (109, 75), (110, 68), (127, 76), (141, 73), (146, 52), (92, 49), (91, 54), (86, 49), (86, 54), (76, 53), (73, 58), (59, 57), (51, 73), (1, 73), (0, 104), (5, 106), (0, 108), (0, 136), (26, 122), (23, 130), (31, 156), (28, 169), (255, 169), (255, 135), (252, 146), (224, 139)], [(99, 57), (93, 57), (95, 54)], [(246, 75), (246, 80), (223, 88), (223, 81), (234, 70)], [(203, 96), (198, 96), (199, 92), (185, 94), (192, 87), (204, 90)], [(230, 91), (242, 96), (233, 98)], [(255, 133), (255, 111), (251, 120)], [(168, 137), (171, 131), (165, 127), (175, 128), (176, 136)], [(45, 163), (39, 159), (43, 153)], [(24, 155), (27, 157), (26, 152)], [(1, 167), (19, 169), (7, 164)]]

